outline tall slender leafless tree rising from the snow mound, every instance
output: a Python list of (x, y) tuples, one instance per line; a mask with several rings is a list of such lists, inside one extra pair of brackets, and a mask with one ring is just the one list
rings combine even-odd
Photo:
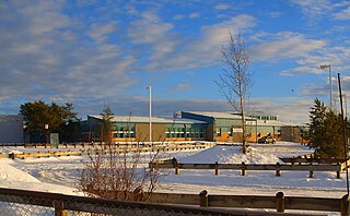
[(243, 153), (246, 154), (245, 99), (247, 92), (253, 86), (253, 73), (249, 72), (250, 59), (241, 34), (233, 36), (230, 32), (230, 41), (222, 47), (221, 53), (224, 68), (215, 83), (220, 86), (228, 103), (242, 117), (242, 144)]

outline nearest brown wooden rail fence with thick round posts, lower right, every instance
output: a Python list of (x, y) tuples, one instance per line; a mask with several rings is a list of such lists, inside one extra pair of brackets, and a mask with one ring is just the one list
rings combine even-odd
[(150, 202), (200, 205), (202, 207), (238, 207), (238, 208), (275, 208), (285, 209), (341, 212), (347, 215), (348, 195), (341, 199), (284, 196), (278, 192), (275, 196), (267, 195), (210, 195), (207, 191), (199, 194), (154, 193)]

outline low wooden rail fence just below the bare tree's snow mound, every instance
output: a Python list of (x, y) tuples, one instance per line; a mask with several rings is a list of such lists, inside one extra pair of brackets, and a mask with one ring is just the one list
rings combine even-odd
[(247, 170), (273, 170), (276, 176), (281, 176), (281, 170), (298, 170), (298, 171), (308, 171), (310, 178), (314, 178), (314, 171), (335, 171), (337, 179), (340, 179), (340, 172), (346, 168), (345, 163), (331, 165), (318, 165), (310, 163), (307, 165), (285, 165), (276, 163), (276, 165), (264, 165), (264, 164), (254, 164), (248, 165), (245, 163), (242, 164), (182, 164), (177, 163), (175, 158), (171, 160), (159, 160), (149, 164), (151, 169), (175, 169), (175, 175), (179, 175), (180, 169), (212, 169), (214, 175), (219, 175), (220, 169), (231, 169), (231, 170), (241, 170), (242, 176), (247, 175)]

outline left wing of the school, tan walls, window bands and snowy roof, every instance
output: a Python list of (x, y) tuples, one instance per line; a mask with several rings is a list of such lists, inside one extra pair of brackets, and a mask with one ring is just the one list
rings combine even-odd
[[(82, 135), (84, 141), (101, 141), (102, 117), (88, 116)], [(114, 116), (112, 142), (149, 142), (150, 120), (148, 117)], [(183, 118), (152, 118), (152, 142), (205, 141), (208, 140), (207, 122)]]

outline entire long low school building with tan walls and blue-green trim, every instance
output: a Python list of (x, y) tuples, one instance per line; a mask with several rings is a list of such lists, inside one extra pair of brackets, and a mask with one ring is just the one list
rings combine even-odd
[[(112, 142), (149, 142), (149, 117), (114, 116)], [(301, 128), (280, 122), (278, 116), (253, 115), (245, 118), (246, 140), (257, 142), (270, 135), (280, 141), (299, 142)], [(289, 130), (291, 129), (291, 130)], [(292, 134), (291, 134), (292, 133)], [(152, 142), (241, 142), (241, 116), (232, 112), (178, 111), (174, 117), (152, 117)], [(81, 140), (100, 142), (103, 136), (101, 116), (88, 116), (81, 122)]]

